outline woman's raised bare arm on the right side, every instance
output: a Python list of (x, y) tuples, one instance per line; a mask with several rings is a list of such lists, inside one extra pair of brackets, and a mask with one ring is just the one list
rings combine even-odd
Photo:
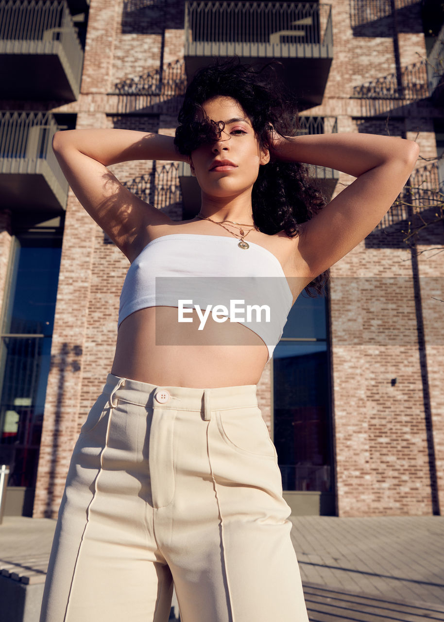
[(374, 230), (409, 179), (419, 147), (390, 136), (318, 134), (277, 138), (274, 154), (357, 178), (300, 228), (295, 261), (309, 282)]

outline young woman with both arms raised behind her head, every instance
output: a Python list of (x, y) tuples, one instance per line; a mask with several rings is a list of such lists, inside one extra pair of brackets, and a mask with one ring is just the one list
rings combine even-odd
[[(173, 584), (182, 622), (308, 620), (256, 384), (300, 292), (319, 290), (375, 228), (419, 150), (369, 134), (295, 136), (294, 106), (237, 62), (196, 75), (179, 121), (175, 139), (85, 129), (53, 140), (76, 197), (131, 266), (40, 622), (165, 622)], [(107, 169), (142, 159), (189, 162), (199, 215), (172, 221)], [(356, 180), (324, 206), (301, 162)], [(239, 321), (233, 300), (268, 301), (270, 317)]]

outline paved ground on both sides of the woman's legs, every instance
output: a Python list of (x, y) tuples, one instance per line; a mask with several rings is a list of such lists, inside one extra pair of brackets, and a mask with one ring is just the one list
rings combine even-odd
[[(292, 522), (310, 622), (444, 621), (444, 517)], [(42, 580), (54, 528), (50, 519), (4, 517), (0, 571)]]

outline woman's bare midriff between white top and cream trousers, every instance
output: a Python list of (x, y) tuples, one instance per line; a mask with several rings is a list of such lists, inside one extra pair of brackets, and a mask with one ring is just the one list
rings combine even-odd
[(211, 316), (198, 330), (197, 317), (179, 324), (177, 313), (176, 307), (148, 307), (125, 318), (111, 373), (157, 386), (211, 389), (259, 382), (268, 359), (259, 335)]

